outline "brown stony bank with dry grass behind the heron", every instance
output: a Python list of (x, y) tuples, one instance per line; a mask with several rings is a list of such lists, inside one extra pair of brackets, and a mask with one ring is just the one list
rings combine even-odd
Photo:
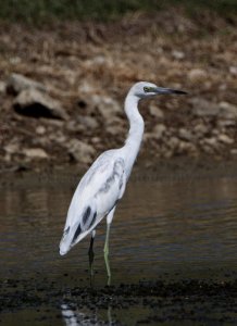
[[(123, 100), (137, 80), (189, 92), (141, 104), (146, 162), (235, 159), (236, 27), (235, 16), (204, 11), (192, 20), (177, 9), (107, 24), (1, 23), (1, 167), (89, 164), (100, 151), (121, 146), (128, 127)], [(66, 117), (18, 114), (16, 93), (7, 91), (12, 73), (41, 83)]]

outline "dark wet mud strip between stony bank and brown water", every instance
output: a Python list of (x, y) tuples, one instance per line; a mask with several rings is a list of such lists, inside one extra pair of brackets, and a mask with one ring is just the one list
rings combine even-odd
[[(148, 166), (146, 166), (148, 165)], [(64, 165), (48, 167), (45, 171), (0, 170), (0, 188), (17, 188), (25, 186), (77, 185), (86, 173), (85, 166)], [(158, 161), (157, 164), (146, 164), (140, 161), (135, 164), (130, 176), (133, 183), (178, 183), (183, 180), (197, 181), (201, 179), (236, 178), (237, 161), (226, 160), (176, 160)]]

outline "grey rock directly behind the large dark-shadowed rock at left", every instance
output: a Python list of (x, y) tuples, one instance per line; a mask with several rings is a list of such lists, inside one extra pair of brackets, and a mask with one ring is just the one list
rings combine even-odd
[(45, 92), (46, 86), (41, 83), (35, 82), (30, 78), (27, 78), (20, 74), (11, 74), (7, 82), (7, 90), (8, 92), (17, 95), (26, 89), (37, 89), (39, 91)]

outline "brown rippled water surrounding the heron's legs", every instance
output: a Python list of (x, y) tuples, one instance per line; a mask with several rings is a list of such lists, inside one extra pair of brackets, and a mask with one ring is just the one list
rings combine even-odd
[[(0, 188), (0, 278), (46, 276), (59, 285), (88, 286), (89, 238), (67, 255), (59, 255), (75, 179), (65, 181), (57, 177), (53, 183), (41, 183), (36, 178), (32, 183), (23, 179), (20, 184)], [(107, 280), (102, 251), (104, 231), (105, 222), (98, 227), (95, 242), (96, 286), (103, 286)], [(110, 239), (114, 285), (160, 276), (230, 277), (237, 267), (237, 176), (191, 179), (135, 176), (115, 212)], [(72, 313), (75, 314), (70, 311), (65, 306), (61, 306), (61, 311), (54, 306), (41, 308), (38, 312), (26, 309), (15, 314), (4, 313), (2, 323), (16, 325), (21, 318), (21, 325), (89, 325), (68, 324), (74, 318)], [(71, 317), (65, 317), (70, 313)], [(126, 310), (123, 317), (113, 311), (113, 316), (125, 325), (133, 325), (129, 319), (133, 315), (147, 313), (140, 306), (136, 313), (133, 308)], [(84, 310), (80, 314), (110, 319), (109, 308), (97, 312)]]

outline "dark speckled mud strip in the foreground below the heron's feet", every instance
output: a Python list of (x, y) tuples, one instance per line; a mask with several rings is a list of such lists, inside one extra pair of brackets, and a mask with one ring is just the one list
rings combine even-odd
[[(64, 278), (66, 277), (67, 275)], [(110, 308), (112, 311), (120, 310), (122, 313), (133, 306), (138, 310), (142, 308), (149, 310), (146, 318), (137, 319), (137, 323), (141, 325), (178, 321), (234, 325), (237, 322), (236, 275), (232, 277), (232, 280), (223, 281), (158, 279), (102, 288), (62, 287), (47, 277), (43, 279), (5, 279), (0, 284), (0, 299), (1, 313), (16, 312), (27, 308), (40, 310), (47, 305), (48, 309), (51, 306), (59, 309), (57, 318), (67, 315), (68, 319), (74, 316), (80, 322), (83, 317), (79, 311), (85, 308), (88, 311)], [(43, 315), (47, 322), (47, 313), (45, 312)], [(88, 315), (85, 319), (88, 321)], [(93, 321), (91, 318), (90, 322)], [(98, 322), (99, 325), (102, 322), (107, 324), (104, 321)], [(114, 321), (114, 325), (123, 325), (123, 323)]]

